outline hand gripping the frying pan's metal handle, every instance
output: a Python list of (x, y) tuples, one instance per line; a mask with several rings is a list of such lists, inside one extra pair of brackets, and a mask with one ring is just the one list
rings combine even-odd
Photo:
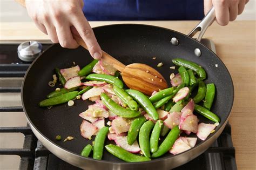
[(220, 25), (227, 25), (234, 21), (244, 11), (245, 4), (249, 0), (204, 0), (204, 12), (206, 13), (214, 6), (216, 21)]

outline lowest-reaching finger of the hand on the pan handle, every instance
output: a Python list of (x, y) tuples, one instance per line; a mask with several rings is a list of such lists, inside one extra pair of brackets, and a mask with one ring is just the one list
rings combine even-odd
[(230, 21), (230, 11), (227, 1), (213, 1), (216, 21), (220, 25), (227, 25)]

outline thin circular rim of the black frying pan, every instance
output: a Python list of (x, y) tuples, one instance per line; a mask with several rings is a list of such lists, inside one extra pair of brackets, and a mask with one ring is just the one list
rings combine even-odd
[[(210, 52), (212, 52), (213, 55), (221, 62), (221, 64), (223, 64), (223, 65), (225, 66), (225, 70), (226, 70), (226, 72), (228, 73), (228, 76), (229, 76), (230, 79), (231, 79), (231, 87), (232, 87), (232, 89), (231, 89), (231, 92), (232, 92), (232, 95), (231, 95), (231, 100), (232, 100), (232, 101), (231, 101), (231, 107), (228, 108), (228, 116), (227, 116), (226, 120), (224, 120), (223, 125), (221, 125), (221, 126), (219, 125), (220, 127), (218, 128), (218, 130), (217, 130), (211, 137), (207, 138), (205, 141), (201, 142), (200, 144), (194, 146), (194, 147), (191, 148), (191, 149), (188, 149), (188, 150), (185, 151), (185, 152), (179, 153), (179, 154), (177, 154), (177, 155), (171, 155), (171, 154), (170, 154), (170, 156), (162, 157), (162, 158), (160, 157), (160, 158), (152, 159), (151, 161), (146, 161), (146, 162), (115, 162), (115, 161), (110, 161), (110, 160), (96, 160), (96, 159), (93, 159), (93, 158), (82, 157), (82, 156), (79, 155), (78, 153), (72, 152), (72, 151), (70, 151), (70, 150), (68, 150), (68, 149), (66, 149), (66, 148), (64, 148), (64, 147), (62, 147), (62, 146), (59, 146), (59, 145), (57, 145), (55, 142), (53, 142), (53, 141), (51, 141), (49, 138), (47, 138), (47, 137), (46, 137), (41, 131), (39, 131), (39, 130), (36, 128), (36, 126), (32, 123), (32, 121), (31, 121), (30, 118), (29, 118), (28, 113), (26, 112), (26, 108), (25, 108), (24, 101), (23, 101), (24, 83), (25, 83), (26, 76), (28, 75), (28, 73), (29, 73), (31, 67), (32, 67), (33, 64), (37, 61), (37, 59), (43, 55), (43, 53), (45, 53), (48, 49), (50, 49), (50, 47), (55, 46), (55, 45), (58, 45), (58, 44), (52, 44), (48, 49), (46, 49), (44, 52), (42, 52), (42, 54), (41, 54), (39, 57), (37, 57), (37, 58), (30, 64), (30, 66), (29, 66), (28, 70), (26, 71), (25, 76), (24, 76), (24, 78), (23, 78), (22, 87), (21, 87), (22, 107), (23, 107), (23, 111), (24, 111), (24, 113), (25, 113), (25, 115), (26, 115), (26, 119), (27, 119), (29, 125), (32, 126), (32, 127), (37, 131), (37, 133), (38, 133), (39, 135), (41, 135), (42, 138), (44, 138), (46, 141), (48, 141), (51, 145), (54, 145), (54, 147), (57, 147), (57, 148), (59, 148), (59, 149), (65, 151), (65, 152), (69, 152), (70, 154), (72, 154), (72, 155), (74, 155), (74, 156), (76, 156), (76, 157), (80, 157), (81, 159), (84, 159), (84, 160), (95, 161), (95, 162), (97, 162), (97, 163), (100, 163), (100, 162), (103, 163), (103, 162), (104, 162), (104, 163), (106, 163), (106, 164), (116, 164), (116, 165), (138, 165), (138, 164), (146, 164), (146, 163), (148, 163), (148, 162), (154, 163), (154, 162), (158, 162), (158, 161), (170, 159), (170, 158), (173, 158), (173, 157), (177, 157), (178, 155), (181, 155), (181, 154), (186, 154), (187, 152), (190, 152), (190, 151), (192, 152), (193, 150), (198, 149), (201, 145), (206, 144), (207, 141), (210, 141), (210, 139), (216, 137), (217, 132), (219, 132), (219, 131), (221, 130), (221, 127), (222, 127), (222, 126), (225, 126), (225, 125), (226, 125), (226, 123), (227, 123), (227, 121), (228, 121), (228, 118), (230, 118), (231, 111), (232, 111), (232, 108), (233, 108), (233, 103), (234, 103), (234, 84), (233, 84), (233, 80), (232, 80), (232, 77), (231, 77), (230, 72), (228, 71), (228, 69), (227, 69), (226, 65), (223, 63), (223, 61), (222, 61), (211, 49), (209, 49), (207, 46), (205, 46), (205, 45), (202, 44), (201, 42), (198, 42), (197, 40), (195, 40), (195, 39), (193, 39), (193, 38), (191, 38), (191, 37), (185, 35), (184, 33), (181, 33), (181, 32), (175, 31), (175, 30), (171, 30), (171, 29), (167, 29), (167, 28), (163, 28), (163, 27), (160, 27), (160, 26), (147, 25), (147, 24), (134, 24), (134, 23), (133, 23), (133, 24), (109, 24), (109, 25), (97, 26), (97, 27), (94, 27), (94, 28), (92, 28), (92, 29), (94, 30), (94, 29), (105, 28), (105, 27), (108, 27), (108, 26), (120, 26), (120, 25), (133, 25), (133, 26), (134, 26), (134, 25), (138, 25), (138, 26), (140, 25), (140, 26), (149, 26), (149, 27), (153, 27), (153, 28), (164, 29), (164, 30), (167, 30), (167, 31), (176, 32), (176, 33), (180, 34), (181, 36), (185, 36), (185, 37), (187, 37), (187, 38), (192, 39), (194, 42), (199, 43), (200, 45), (204, 46), (207, 50), (209, 50)], [(223, 127), (223, 128), (224, 128), (224, 127)], [(222, 132), (222, 131), (221, 131), (221, 132)], [(221, 133), (221, 132), (220, 132), (220, 133)], [(199, 156), (199, 155), (197, 155), (197, 157), (198, 157), (198, 156)]]

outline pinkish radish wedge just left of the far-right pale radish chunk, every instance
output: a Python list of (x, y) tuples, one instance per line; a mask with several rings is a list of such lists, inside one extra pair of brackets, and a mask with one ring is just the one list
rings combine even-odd
[(184, 120), (180, 121), (179, 128), (180, 130), (197, 133), (197, 130), (198, 130), (197, 116), (188, 115)]

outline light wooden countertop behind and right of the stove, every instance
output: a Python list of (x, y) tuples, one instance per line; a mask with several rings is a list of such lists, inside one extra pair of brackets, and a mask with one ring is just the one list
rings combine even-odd
[[(157, 25), (188, 33), (198, 22), (90, 22), (92, 27), (116, 23)], [(213, 23), (204, 35), (204, 38), (210, 38), (215, 43), (217, 55), (223, 60), (233, 79), (235, 99), (230, 124), (238, 169), (255, 169), (256, 167), (255, 30), (255, 21), (236, 21), (227, 26)], [(33, 23), (0, 23), (0, 42), (25, 39), (47, 40), (48, 36), (39, 32)]]

